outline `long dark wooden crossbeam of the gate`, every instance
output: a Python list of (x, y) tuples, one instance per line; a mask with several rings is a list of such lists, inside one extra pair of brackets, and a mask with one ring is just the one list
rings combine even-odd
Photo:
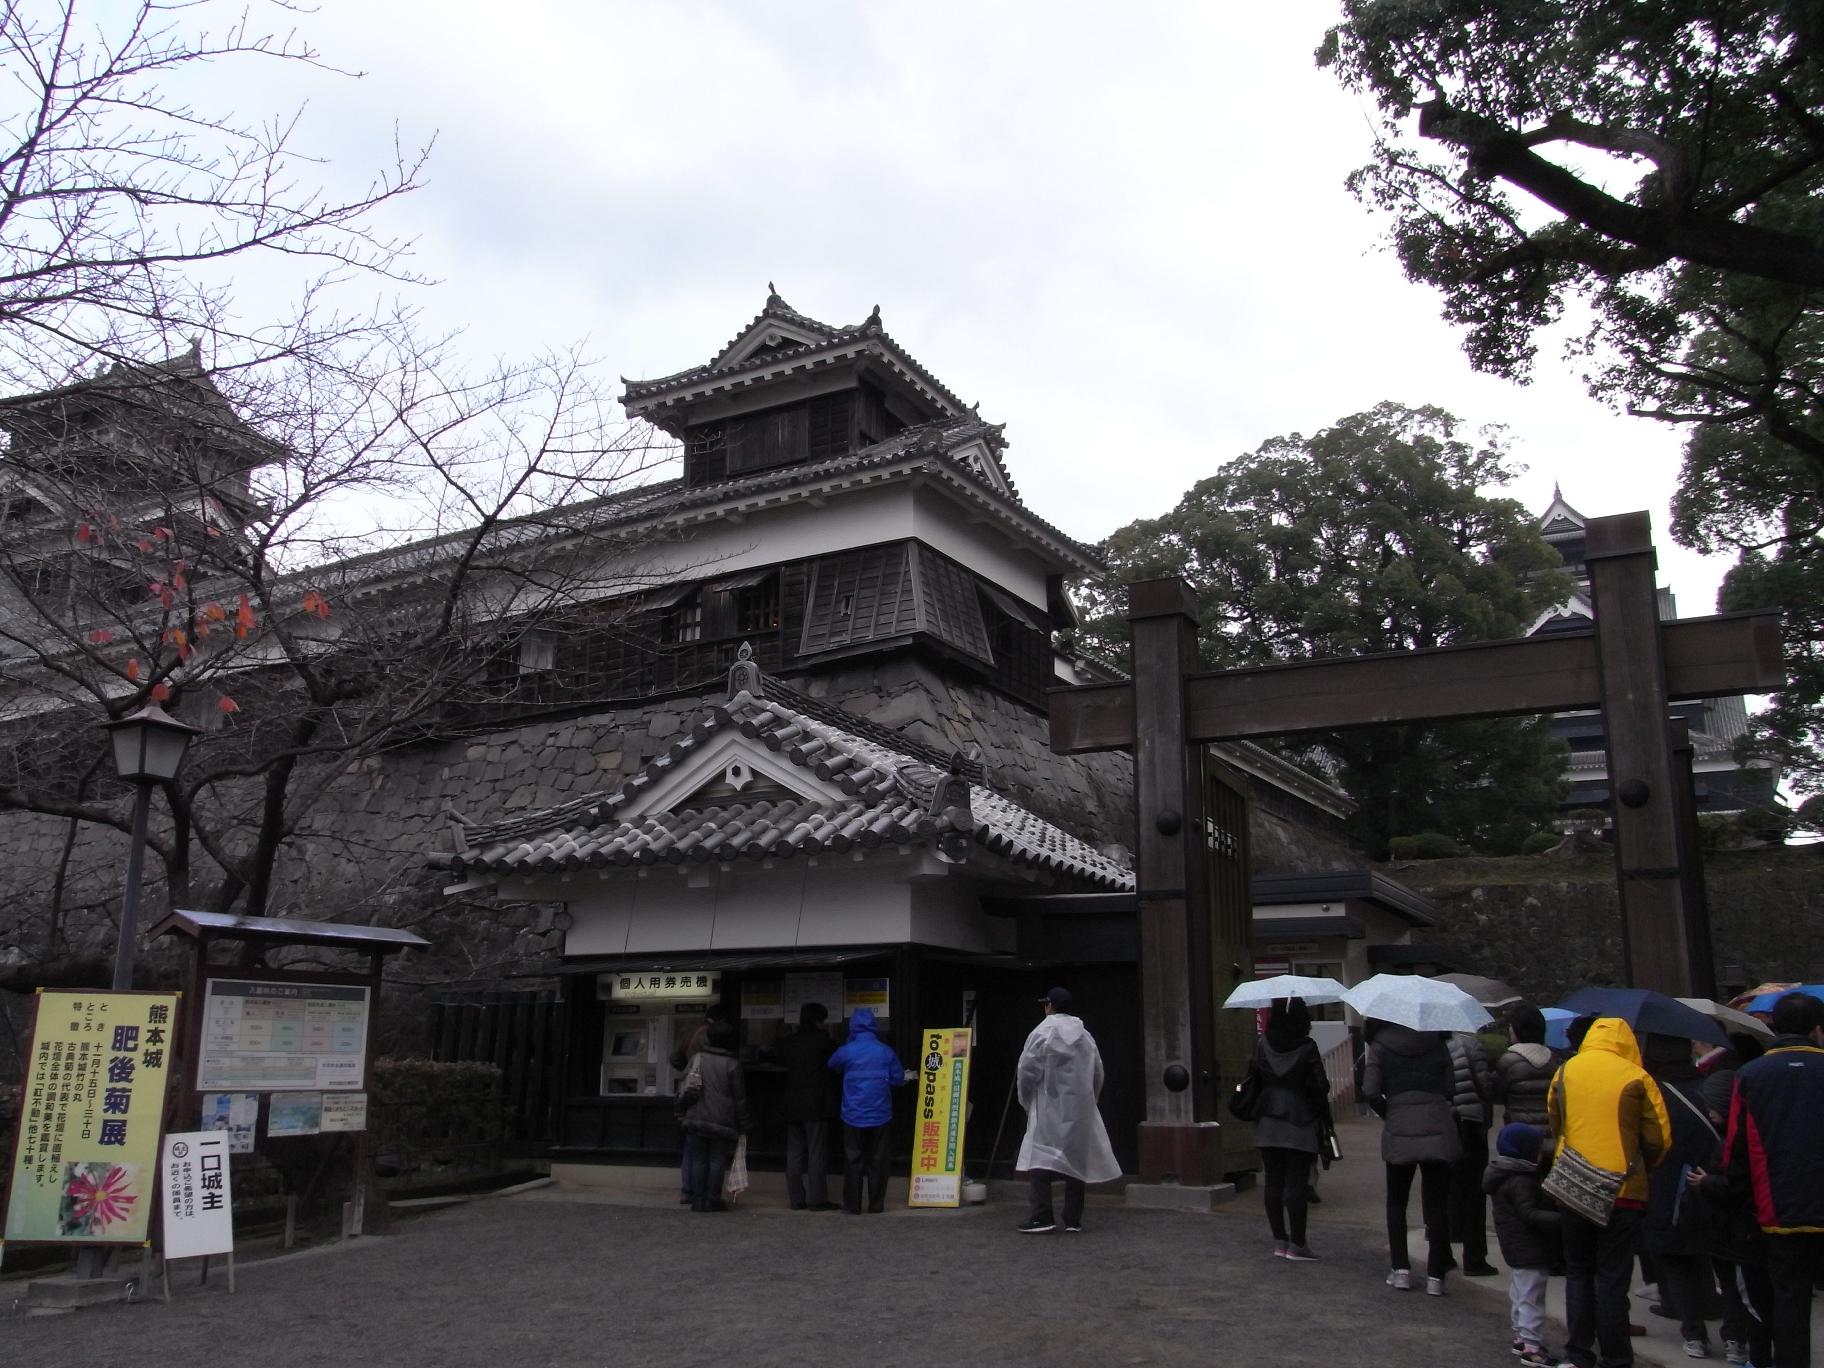
[[(1769, 693), (1786, 684), (1778, 613), (1663, 622), (1660, 642), (1667, 699)], [(1133, 684), (1052, 689), (1049, 702), (1054, 751), (1133, 746)], [(1184, 677), (1184, 730), (1193, 742), (1600, 706), (1594, 631)]]

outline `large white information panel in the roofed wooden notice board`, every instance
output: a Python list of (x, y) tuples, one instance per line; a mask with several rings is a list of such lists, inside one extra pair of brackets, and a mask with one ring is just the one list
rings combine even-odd
[(212, 978), (197, 1087), (317, 1093), (367, 1087), (368, 989)]

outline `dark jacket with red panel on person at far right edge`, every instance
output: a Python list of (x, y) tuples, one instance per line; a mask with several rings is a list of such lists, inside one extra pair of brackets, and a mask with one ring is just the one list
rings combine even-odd
[(1824, 1233), (1824, 1049), (1777, 1036), (1735, 1073), (1724, 1140), (1731, 1193), (1769, 1235)]

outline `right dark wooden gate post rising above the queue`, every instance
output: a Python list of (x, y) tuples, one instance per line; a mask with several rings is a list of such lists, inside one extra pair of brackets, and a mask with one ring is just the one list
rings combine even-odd
[(1585, 527), (1596, 658), (1609, 744), (1614, 863), (1627, 981), (1689, 998), (1693, 925), (1680, 854), (1678, 793), (1665, 735), (1665, 653), (1653, 584), (1653, 520), (1591, 518)]

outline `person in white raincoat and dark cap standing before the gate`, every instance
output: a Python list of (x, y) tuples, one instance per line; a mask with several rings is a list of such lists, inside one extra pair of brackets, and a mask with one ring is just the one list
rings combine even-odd
[(1040, 1001), (1045, 1020), (1020, 1051), (1020, 1105), (1027, 1113), (1025, 1140), (1014, 1167), (1032, 1175), (1032, 1217), (1027, 1233), (1058, 1229), (1051, 1186), (1063, 1182), (1063, 1228), (1083, 1229), (1083, 1186), (1122, 1176), (1109, 1133), (1096, 1111), (1102, 1093), (1102, 1051), (1082, 1018), (1071, 1016), (1071, 994), (1052, 989)]

